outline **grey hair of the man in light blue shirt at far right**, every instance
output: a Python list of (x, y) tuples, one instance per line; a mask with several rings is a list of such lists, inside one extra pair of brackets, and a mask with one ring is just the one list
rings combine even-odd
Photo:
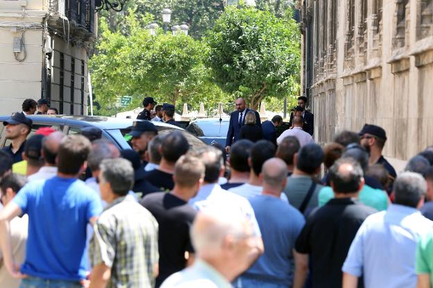
[(417, 207), (427, 191), (427, 183), (419, 173), (403, 172), (396, 178), (393, 191), (396, 204)]

